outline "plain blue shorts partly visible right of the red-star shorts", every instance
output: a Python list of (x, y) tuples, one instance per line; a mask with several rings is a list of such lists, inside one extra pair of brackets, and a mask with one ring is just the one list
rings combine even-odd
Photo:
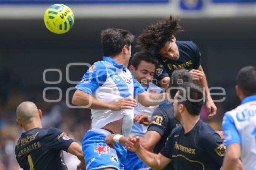
[(138, 170), (139, 168), (148, 168), (137, 156), (135, 152), (127, 150), (125, 159), (125, 169), (127, 170)]

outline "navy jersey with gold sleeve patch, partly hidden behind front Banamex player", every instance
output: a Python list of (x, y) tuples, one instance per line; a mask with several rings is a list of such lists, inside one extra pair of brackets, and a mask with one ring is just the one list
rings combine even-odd
[[(154, 153), (159, 153), (162, 150), (171, 131), (179, 125), (180, 122), (174, 118), (173, 104), (155, 109), (148, 126), (148, 131), (158, 132), (161, 135), (161, 139), (155, 145)], [(171, 163), (165, 169), (171, 170)]]

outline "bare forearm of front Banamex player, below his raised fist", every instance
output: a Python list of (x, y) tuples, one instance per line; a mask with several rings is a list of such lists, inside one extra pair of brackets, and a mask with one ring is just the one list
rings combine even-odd
[(162, 169), (160, 165), (160, 156), (159, 154), (155, 154), (147, 151), (142, 146), (136, 151), (136, 154), (146, 165), (153, 169)]

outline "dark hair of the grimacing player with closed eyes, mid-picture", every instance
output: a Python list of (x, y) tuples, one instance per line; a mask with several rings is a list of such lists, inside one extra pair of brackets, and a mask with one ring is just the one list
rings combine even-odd
[(148, 51), (140, 51), (135, 53), (133, 55), (131, 65), (133, 65), (133, 67), (137, 69), (142, 60), (154, 64), (155, 67), (158, 66), (158, 60)]

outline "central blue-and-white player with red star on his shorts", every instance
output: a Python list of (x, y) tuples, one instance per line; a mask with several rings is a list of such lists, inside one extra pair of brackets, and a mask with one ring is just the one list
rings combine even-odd
[(135, 100), (145, 107), (167, 101), (167, 93), (147, 93), (127, 68), (134, 36), (123, 29), (105, 29), (101, 32), (103, 61), (95, 62), (76, 85), (74, 105), (86, 106), (92, 112), (92, 129), (82, 141), (86, 169), (123, 169), (126, 149), (105, 143), (108, 134), (130, 134)]

